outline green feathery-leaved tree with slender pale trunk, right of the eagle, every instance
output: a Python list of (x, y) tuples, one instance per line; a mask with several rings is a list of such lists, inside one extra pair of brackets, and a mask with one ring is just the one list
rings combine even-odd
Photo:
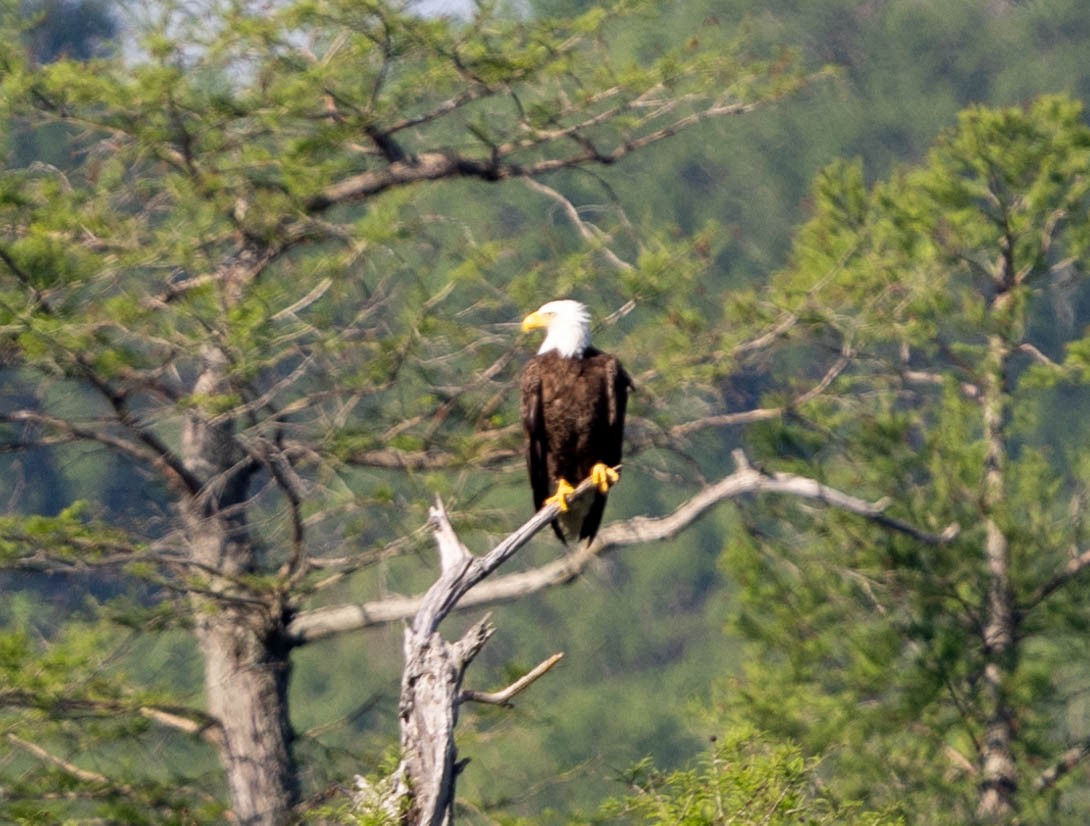
[(760, 434), (770, 461), (884, 495), (944, 538), (753, 511), (727, 551), (734, 627), (753, 641), (728, 702), (833, 749), (832, 789), (910, 822), (984, 816), (1000, 741), (1010, 774), (995, 782), (1020, 822), (1083, 816), (1080, 794), (1039, 797), (1034, 778), (1086, 737), (1069, 668), (1086, 641), (1069, 610), (1085, 575), (1082, 440), (1055, 439), (1040, 413), (1087, 398), (1088, 169), (1069, 98), (969, 109), (888, 182), (826, 171), (790, 266), (766, 303), (741, 307), (789, 313), (787, 350), (835, 375)]

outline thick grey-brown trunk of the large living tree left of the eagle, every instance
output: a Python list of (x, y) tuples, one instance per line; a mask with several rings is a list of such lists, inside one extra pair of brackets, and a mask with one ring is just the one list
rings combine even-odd
[[(196, 394), (222, 387), (221, 362), (206, 353)], [(219, 757), (233, 821), (282, 826), (299, 800), (288, 713), (289, 611), (244, 579), (258, 570), (245, 518), (255, 470), (228, 421), (193, 414), (183, 433), (187, 470), (201, 483), (183, 508), (191, 559), (206, 578), (193, 588), (195, 632), (208, 712), (219, 721)]]

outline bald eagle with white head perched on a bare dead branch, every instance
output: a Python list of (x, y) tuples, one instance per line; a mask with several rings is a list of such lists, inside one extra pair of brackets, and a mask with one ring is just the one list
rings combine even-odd
[[(591, 347), (591, 317), (578, 301), (550, 301), (522, 321), (545, 329), (522, 371), (522, 426), (534, 508), (556, 503), (553, 530), (568, 544), (590, 543), (617, 482), (631, 379), (620, 362)], [(592, 476), (597, 490), (569, 507), (573, 486)]]

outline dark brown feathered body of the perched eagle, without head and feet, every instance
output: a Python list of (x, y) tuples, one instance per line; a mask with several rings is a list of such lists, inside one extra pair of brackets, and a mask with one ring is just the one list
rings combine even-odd
[[(625, 408), (631, 379), (608, 353), (588, 348), (582, 355), (540, 353), (522, 372), (522, 426), (534, 507), (566, 479), (579, 485), (598, 462), (620, 464)], [(572, 502), (553, 523), (564, 542), (593, 539), (602, 524), (606, 495)]]

